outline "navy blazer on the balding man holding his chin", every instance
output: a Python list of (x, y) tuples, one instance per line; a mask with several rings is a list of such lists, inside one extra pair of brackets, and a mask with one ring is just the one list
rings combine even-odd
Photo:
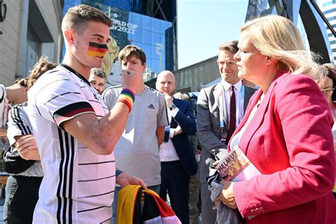
[[(175, 135), (172, 138), (172, 142), (184, 171), (191, 176), (197, 172), (197, 162), (188, 135), (194, 135), (196, 133), (196, 118), (194, 116), (193, 107), (188, 101), (173, 99), (173, 103), (179, 108), (179, 112), (177, 112), (175, 118), (172, 118), (170, 128), (177, 128), (177, 125), (179, 125), (182, 133)], [(168, 140), (169, 130), (166, 129), (164, 132), (164, 142), (168, 142)]]

